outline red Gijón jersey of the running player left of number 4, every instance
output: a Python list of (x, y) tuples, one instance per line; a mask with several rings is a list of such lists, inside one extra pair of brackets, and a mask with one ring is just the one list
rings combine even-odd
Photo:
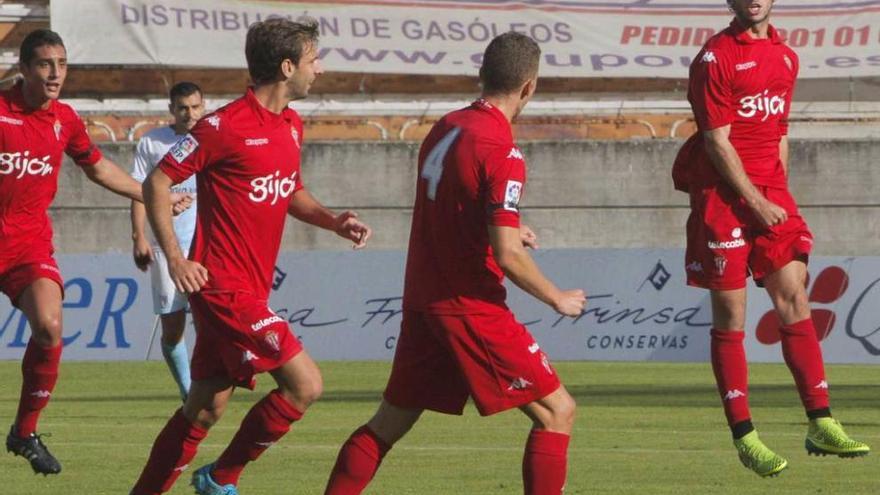
[(295, 111), (273, 113), (248, 90), (199, 120), (159, 162), (175, 184), (198, 174), (190, 259), (208, 269), (203, 290), (268, 298), (287, 207), (303, 187), (302, 135)]

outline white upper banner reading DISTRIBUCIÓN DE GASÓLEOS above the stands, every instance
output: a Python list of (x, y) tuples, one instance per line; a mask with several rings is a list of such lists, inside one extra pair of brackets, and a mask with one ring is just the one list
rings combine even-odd
[[(245, 33), (311, 17), (326, 69), (476, 75), (514, 30), (542, 48), (543, 76), (686, 78), (732, 18), (723, 0), (52, 0), (71, 63), (243, 68)], [(880, 1), (780, 0), (773, 22), (801, 77), (880, 75)]]

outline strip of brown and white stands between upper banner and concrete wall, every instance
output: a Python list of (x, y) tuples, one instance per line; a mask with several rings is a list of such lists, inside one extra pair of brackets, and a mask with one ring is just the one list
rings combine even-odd
[[(0, 81), (17, 74), (18, 46), (49, 26), (49, 2), (0, 2)], [(167, 91), (198, 83), (214, 109), (241, 94), (245, 70), (139, 66), (71, 66), (64, 99), (99, 141), (137, 140), (168, 121)], [(792, 135), (880, 137), (880, 78), (812, 79), (798, 86)], [(328, 72), (312, 95), (294, 104), (309, 139), (418, 140), (449, 110), (479, 92), (477, 79)], [(656, 78), (545, 78), (516, 125), (519, 139), (682, 138), (695, 130), (687, 81)]]

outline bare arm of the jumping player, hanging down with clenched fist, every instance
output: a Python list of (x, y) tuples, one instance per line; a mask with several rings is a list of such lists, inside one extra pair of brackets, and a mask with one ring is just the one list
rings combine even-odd
[(746, 175), (742, 160), (730, 142), (730, 125), (703, 132), (706, 151), (721, 177), (742, 197), (764, 226), (785, 222), (788, 214), (770, 202)]

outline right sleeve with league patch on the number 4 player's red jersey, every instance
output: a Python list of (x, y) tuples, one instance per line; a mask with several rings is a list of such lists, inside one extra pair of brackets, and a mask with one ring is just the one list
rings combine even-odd
[(493, 149), (483, 162), (489, 225), (519, 228), (526, 162), (516, 146)]

